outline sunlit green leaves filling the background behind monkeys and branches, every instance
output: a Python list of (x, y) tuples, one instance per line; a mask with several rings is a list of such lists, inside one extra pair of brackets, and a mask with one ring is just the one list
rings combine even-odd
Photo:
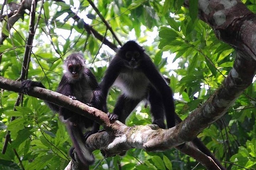
[[(7, 1), (10, 2), (20, 3)], [(254, 0), (243, 2), (256, 12)], [(176, 113), (184, 119), (222, 84), (233, 66), (236, 52), (218, 40), (213, 30), (197, 18), (197, 0), (191, 0), (189, 9), (182, 4), (182, 0), (95, 1), (118, 39), (122, 43), (136, 39), (160, 72), (170, 78), (170, 87), (176, 93)], [(5, 14), (6, 9), (2, 9), (1, 13)], [(48, 89), (56, 90), (63, 73), (64, 58), (71, 52), (80, 51), (84, 53), (88, 67), (101, 81), (114, 51), (87, 33), (84, 22), (117, 46), (118, 41), (89, 1), (38, 1), (36, 11), (37, 29), (27, 78), (41, 81)], [(84, 21), (75, 22), (74, 13)], [(1, 21), (0, 31), (8, 34), (6, 18)], [(13, 80), (20, 77), (29, 23), (30, 15), (25, 14), (10, 29), (9, 38), (0, 45), (1, 76)], [(170, 55), (172, 53), (175, 55)], [(176, 68), (172, 67), (172, 62), (177, 64)], [(232, 170), (241, 167), (256, 169), (254, 89), (255, 83), (245, 90), (223, 118), (198, 135)], [(110, 112), (118, 95), (118, 89), (110, 91), (107, 102)], [(11, 91), (1, 93), (0, 148), (7, 131), (10, 131), (12, 142), (5, 154), (0, 153), (0, 169), (14, 170), (22, 166), (26, 170), (64, 169), (70, 161), (68, 151), (72, 145), (64, 124), (42, 100), (23, 96), (20, 106), (15, 106), (17, 97), (18, 94)], [(10, 121), (11, 117), (16, 119)], [(130, 126), (150, 123), (149, 107), (145, 108), (144, 104), (126, 122)], [(125, 156), (111, 158), (104, 158), (100, 151), (95, 151), (94, 155), (96, 161), (91, 169), (189, 170), (195, 166), (195, 169), (204, 169), (197, 165), (196, 160), (176, 149), (165, 152), (132, 149)]]

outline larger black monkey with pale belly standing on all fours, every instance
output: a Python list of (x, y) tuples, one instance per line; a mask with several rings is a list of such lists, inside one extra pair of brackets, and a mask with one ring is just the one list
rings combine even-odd
[(93, 105), (105, 106), (108, 90), (113, 84), (122, 90), (122, 95), (110, 115), (111, 120), (118, 119), (124, 123), (138, 103), (146, 99), (150, 103), (153, 124), (165, 129), (165, 117), (167, 128), (175, 126), (172, 90), (144, 49), (135, 41), (126, 42), (110, 62), (100, 89), (95, 91)]

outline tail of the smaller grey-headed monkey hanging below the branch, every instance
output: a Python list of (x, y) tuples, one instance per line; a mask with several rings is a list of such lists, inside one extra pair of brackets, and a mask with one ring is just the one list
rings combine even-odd
[(75, 147), (76, 155), (80, 162), (84, 165), (91, 165), (94, 163), (94, 156), (86, 147), (84, 135), (82, 134), (79, 125), (74, 125), (72, 122), (67, 124), (69, 135)]

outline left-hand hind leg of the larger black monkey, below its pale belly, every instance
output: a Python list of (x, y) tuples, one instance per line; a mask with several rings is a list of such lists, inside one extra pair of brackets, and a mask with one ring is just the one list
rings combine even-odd
[[(124, 94), (119, 96), (116, 106), (113, 111), (113, 115), (111, 118), (118, 118), (119, 121), (125, 123), (126, 118), (133, 111), (133, 109), (142, 101), (141, 99), (132, 99), (129, 97), (125, 97)], [(111, 116), (110, 115), (110, 116)], [(113, 119), (111, 119), (113, 120)]]

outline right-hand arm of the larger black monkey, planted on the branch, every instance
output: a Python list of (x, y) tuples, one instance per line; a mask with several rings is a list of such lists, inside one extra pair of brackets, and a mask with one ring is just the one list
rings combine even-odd
[(149, 56), (145, 57), (142, 63), (143, 64), (140, 65), (140, 68), (142, 69), (143, 73), (162, 96), (166, 114), (167, 128), (172, 128), (175, 126), (175, 106), (172, 90), (167, 85), (159, 71), (156, 69)]

